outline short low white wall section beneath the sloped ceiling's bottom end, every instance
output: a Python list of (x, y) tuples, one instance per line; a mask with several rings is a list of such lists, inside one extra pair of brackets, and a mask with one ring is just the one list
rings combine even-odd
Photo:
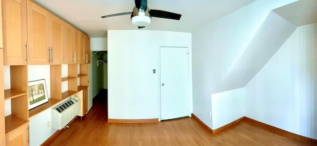
[(245, 116), (245, 89), (211, 95), (212, 128), (217, 129)]

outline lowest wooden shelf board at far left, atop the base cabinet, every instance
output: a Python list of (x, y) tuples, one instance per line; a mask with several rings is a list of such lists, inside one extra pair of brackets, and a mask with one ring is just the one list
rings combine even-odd
[(5, 134), (10, 133), (14, 129), (28, 123), (29, 121), (23, 120), (19, 117), (8, 115), (5, 117)]

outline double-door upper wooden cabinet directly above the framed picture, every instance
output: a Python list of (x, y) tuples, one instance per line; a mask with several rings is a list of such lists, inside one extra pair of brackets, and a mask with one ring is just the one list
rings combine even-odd
[(62, 20), (30, 0), (27, 5), (29, 64), (61, 64)]

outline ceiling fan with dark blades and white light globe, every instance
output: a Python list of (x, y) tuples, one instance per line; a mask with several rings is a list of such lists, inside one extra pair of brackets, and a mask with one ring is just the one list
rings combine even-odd
[(180, 17), (182, 16), (181, 14), (177, 14), (177, 13), (156, 10), (156, 9), (149, 9), (148, 0), (134, 0), (134, 2), (135, 2), (135, 7), (133, 8), (132, 12), (116, 13), (116, 14), (102, 16), (102, 18), (131, 14), (132, 24), (138, 26), (138, 28), (140, 29), (150, 25), (151, 17), (179, 20)]

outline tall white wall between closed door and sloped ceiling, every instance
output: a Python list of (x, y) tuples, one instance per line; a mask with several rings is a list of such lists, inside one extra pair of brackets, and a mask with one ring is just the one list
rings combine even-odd
[(211, 94), (247, 48), (269, 12), (296, 0), (257, 0), (193, 32), (193, 113), (212, 128)]

